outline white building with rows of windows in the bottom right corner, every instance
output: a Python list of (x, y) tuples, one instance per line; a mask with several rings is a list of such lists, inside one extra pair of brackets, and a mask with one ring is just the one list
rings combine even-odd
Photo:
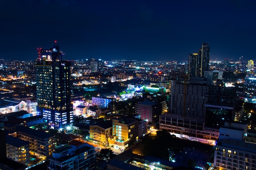
[(248, 143), (246, 123), (225, 122), (214, 149), (218, 170), (256, 170), (256, 144)]

